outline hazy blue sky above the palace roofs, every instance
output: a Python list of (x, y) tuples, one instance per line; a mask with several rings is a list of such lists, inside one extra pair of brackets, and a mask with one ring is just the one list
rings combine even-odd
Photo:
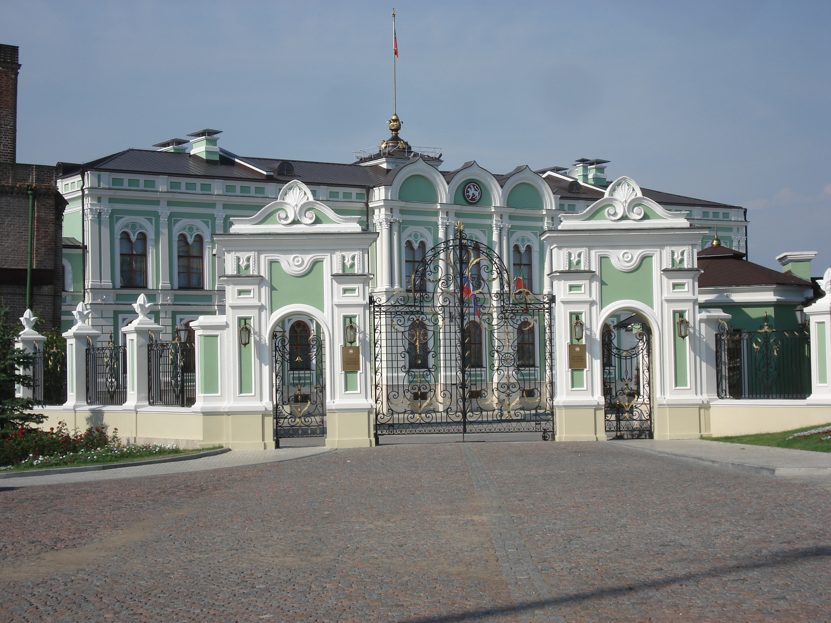
[[(17, 159), (81, 162), (205, 127), (241, 155), (350, 162), (386, 138), (391, 2), (0, 0)], [(412, 145), (494, 173), (611, 160), (749, 208), (750, 259), (831, 266), (831, 3), (395, 2)]]

